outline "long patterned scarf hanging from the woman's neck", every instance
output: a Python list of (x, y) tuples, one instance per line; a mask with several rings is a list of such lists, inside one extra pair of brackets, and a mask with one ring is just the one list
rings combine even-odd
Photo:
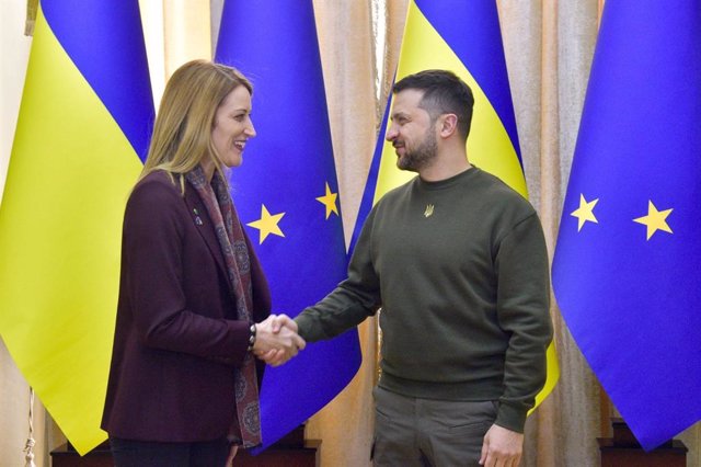
[[(185, 174), (185, 179), (202, 198), (214, 223), (227, 265), (232, 296), (237, 304), (237, 318), (252, 322), (253, 293), (249, 249), (227, 184), (219, 171), (215, 171), (211, 184), (207, 183), (205, 171), (200, 166)], [(234, 430), (231, 433), (234, 436), (234, 443), (246, 448), (257, 446), (261, 444), (261, 415), (255, 361), (251, 353), (246, 354), (241, 368), (235, 369), (235, 397), (241, 437), (239, 438)]]

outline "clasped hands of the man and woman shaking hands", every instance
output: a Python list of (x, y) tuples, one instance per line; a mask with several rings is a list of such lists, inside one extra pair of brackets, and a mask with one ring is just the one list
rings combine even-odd
[(287, 315), (271, 315), (255, 329), (253, 353), (272, 366), (287, 363), (307, 345), (297, 333), (297, 323)]

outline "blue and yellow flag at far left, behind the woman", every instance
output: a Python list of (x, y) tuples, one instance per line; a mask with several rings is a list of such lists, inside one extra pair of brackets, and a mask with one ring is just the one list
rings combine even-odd
[(123, 210), (152, 118), (137, 0), (42, 0), (0, 206), (0, 334), (81, 454), (106, 438)]

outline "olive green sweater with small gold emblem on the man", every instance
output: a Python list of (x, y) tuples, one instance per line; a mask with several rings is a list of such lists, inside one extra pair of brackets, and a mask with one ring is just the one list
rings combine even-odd
[(549, 269), (532, 206), (473, 168), (415, 178), (370, 213), (348, 278), (296, 321), (330, 339), (375, 314), (379, 386), (405, 396), (498, 400), (496, 423), (522, 432), (545, 379)]

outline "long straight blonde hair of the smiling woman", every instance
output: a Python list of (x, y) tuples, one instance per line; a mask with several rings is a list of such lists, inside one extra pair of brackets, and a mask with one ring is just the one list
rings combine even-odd
[[(211, 141), (217, 109), (235, 88), (253, 93), (251, 82), (234, 68), (207, 60), (180, 67), (168, 81), (159, 107), (149, 153), (139, 180), (156, 170), (175, 175), (187, 173), (204, 160), (222, 163)], [(180, 176), (184, 193), (184, 178)]]

